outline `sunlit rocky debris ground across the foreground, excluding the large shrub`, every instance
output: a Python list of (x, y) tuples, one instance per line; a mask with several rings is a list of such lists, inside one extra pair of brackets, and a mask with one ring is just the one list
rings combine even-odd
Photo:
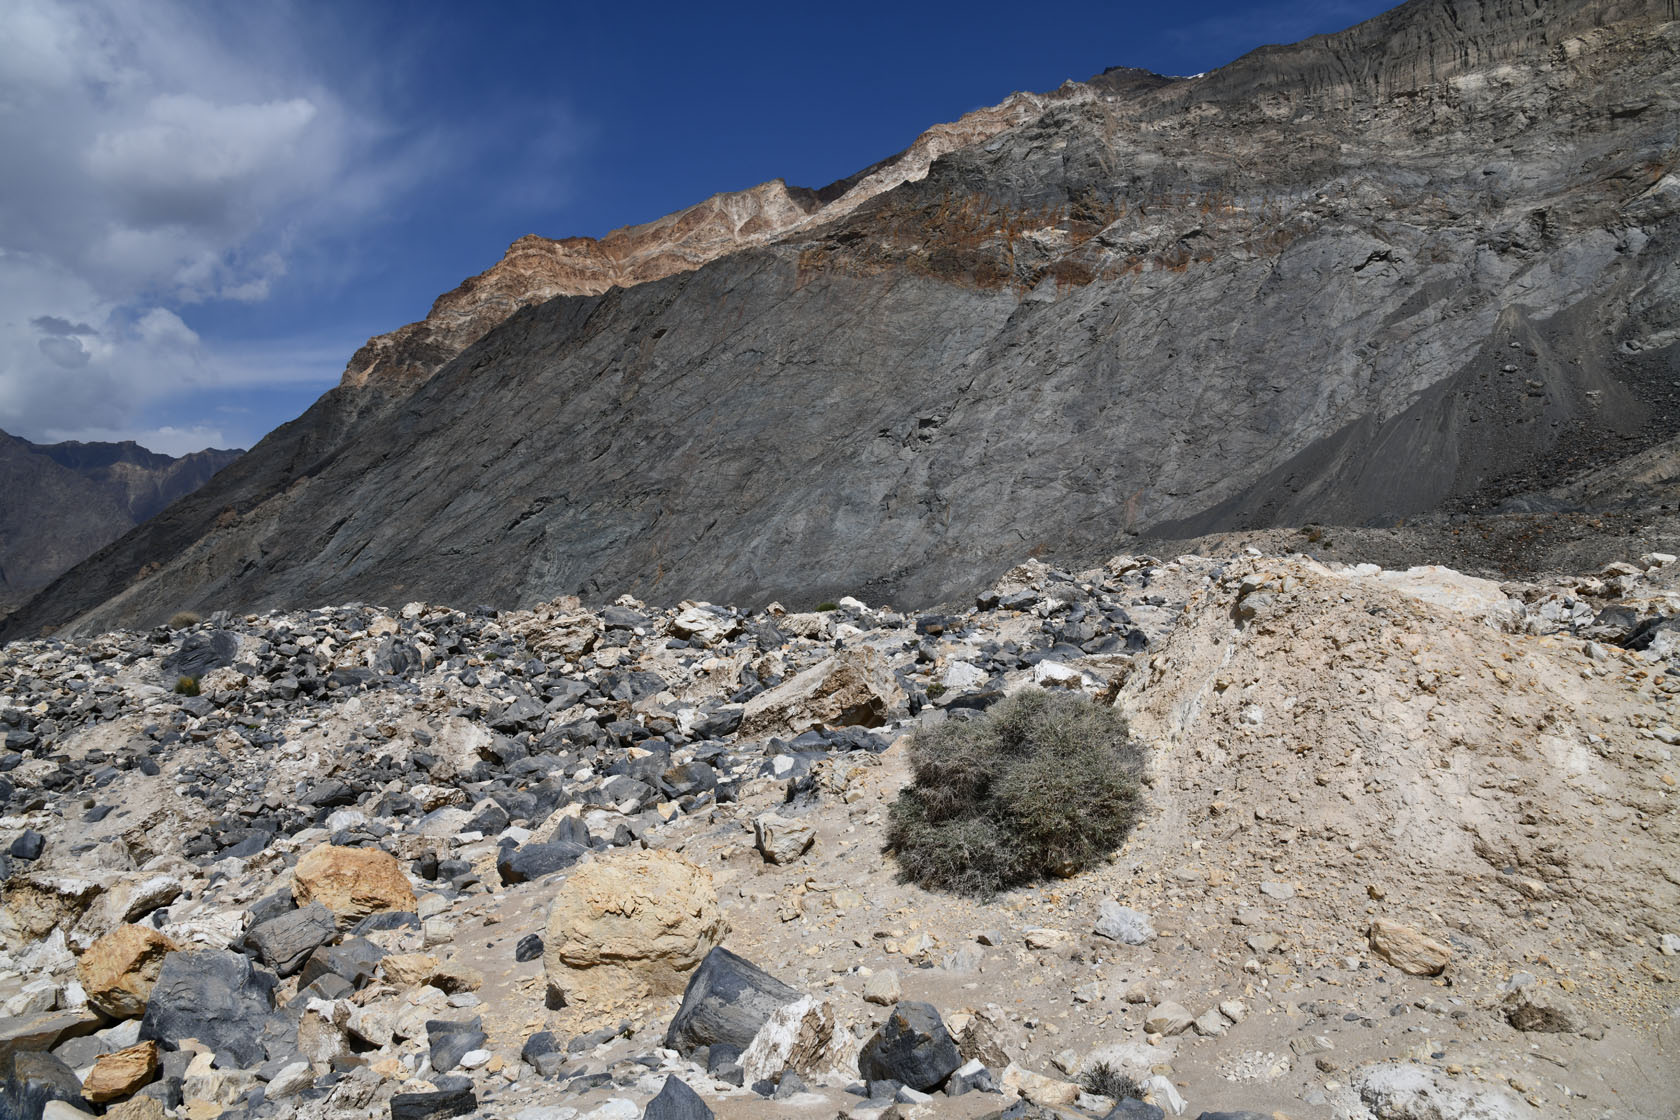
[[(0, 1117), (1673, 1117), (1680, 564), (1245, 551), (895, 613), (366, 604), (0, 650)], [(1116, 704), (990, 900), (904, 744)]]

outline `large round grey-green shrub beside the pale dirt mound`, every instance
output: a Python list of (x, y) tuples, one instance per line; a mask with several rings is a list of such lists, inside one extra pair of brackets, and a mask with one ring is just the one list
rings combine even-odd
[(1142, 808), (1142, 749), (1082, 693), (1023, 688), (979, 719), (921, 729), (887, 821), (902, 878), (984, 897), (1117, 850)]

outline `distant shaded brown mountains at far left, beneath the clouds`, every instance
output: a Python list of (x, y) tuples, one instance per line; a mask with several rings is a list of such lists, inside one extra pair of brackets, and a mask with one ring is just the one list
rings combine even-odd
[(242, 452), (30, 443), (0, 432), (0, 610), (192, 494)]

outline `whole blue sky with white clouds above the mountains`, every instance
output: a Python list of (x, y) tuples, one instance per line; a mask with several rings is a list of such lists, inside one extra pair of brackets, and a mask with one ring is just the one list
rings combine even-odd
[(1384, 0), (7, 0), (0, 428), (250, 447), (516, 237), (822, 186), (1016, 89)]

